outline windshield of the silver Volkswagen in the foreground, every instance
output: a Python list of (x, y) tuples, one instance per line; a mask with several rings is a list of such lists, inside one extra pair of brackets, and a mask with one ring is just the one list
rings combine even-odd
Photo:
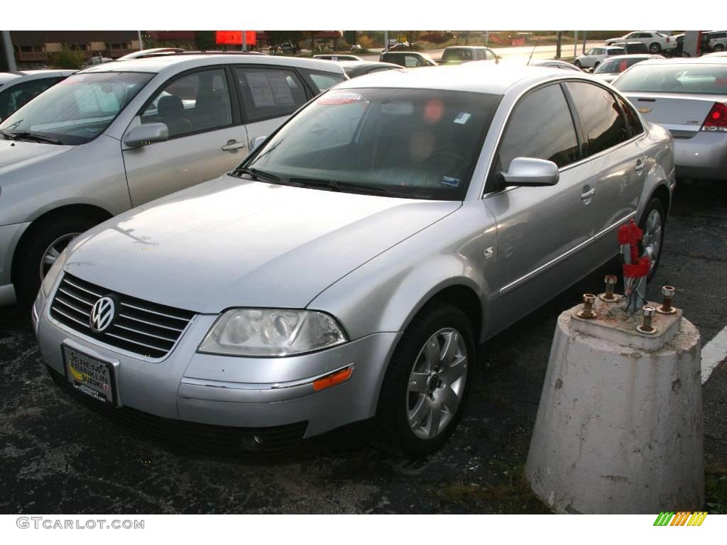
[(244, 166), (284, 184), (460, 200), (500, 99), (430, 89), (334, 89)]

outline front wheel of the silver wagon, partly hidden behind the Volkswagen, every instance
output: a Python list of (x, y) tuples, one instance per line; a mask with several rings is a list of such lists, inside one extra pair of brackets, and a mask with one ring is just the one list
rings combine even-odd
[(87, 217), (49, 218), (31, 227), (28, 240), (17, 251), (13, 283), (17, 301), (29, 308), (38, 294), (42, 278), (52, 262), (73, 238), (89, 230), (97, 222)]

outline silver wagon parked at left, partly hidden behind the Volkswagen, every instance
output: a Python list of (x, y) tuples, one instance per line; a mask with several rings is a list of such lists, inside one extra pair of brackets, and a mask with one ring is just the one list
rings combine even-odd
[(29, 305), (79, 233), (235, 168), (345, 79), (329, 61), (185, 53), (108, 62), (48, 89), (0, 124), (0, 306)]

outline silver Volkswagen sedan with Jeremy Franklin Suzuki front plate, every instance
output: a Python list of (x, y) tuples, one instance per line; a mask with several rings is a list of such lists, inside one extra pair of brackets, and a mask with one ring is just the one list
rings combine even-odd
[(590, 76), (363, 76), (74, 240), (33, 307), (41, 353), (137, 425), (263, 449), (377, 415), (425, 453), (478, 344), (614, 257), (619, 225), (658, 265), (673, 183), (670, 135)]

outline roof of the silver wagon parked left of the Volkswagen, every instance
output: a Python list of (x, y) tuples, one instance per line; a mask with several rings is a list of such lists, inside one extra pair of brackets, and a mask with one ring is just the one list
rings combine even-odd
[(81, 70), (81, 73), (96, 72), (146, 72), (146, 73), (177, 73), (190, 68), (209, 65), (283, 65), (294, 68), (309, 68), (323, 72), (342, 73), (342, 68), (335, 62), (319, 59), (305, 59), (300, 57), (281, 57), (278, 55), (161, 55), (159, 57), (146, 57), (129, 59), (123, 62), (105, 62), (91, 68)]

